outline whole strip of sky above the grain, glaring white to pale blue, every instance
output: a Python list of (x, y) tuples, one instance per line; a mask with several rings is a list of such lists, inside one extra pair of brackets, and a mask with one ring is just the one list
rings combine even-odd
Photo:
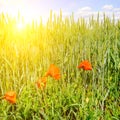
[(0, 13), (16, 16), (19, 10), (28, 20), (47, 19), (50, 10), (58, 14), (60, 9), (63, 17), (73, 12), (75, 18), (88, 18), (99, 11), (101, 16), (105, 12), (112, 17), (114, 13), (115, 19), (120, 19), (120, 0), (0, 0)]

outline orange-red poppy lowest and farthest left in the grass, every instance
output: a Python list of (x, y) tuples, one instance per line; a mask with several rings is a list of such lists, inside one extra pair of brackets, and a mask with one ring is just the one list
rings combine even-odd
[(16, 103), (16, 93), (14, 91), (9, 91), (5, 94), (4, 99), (14, 104)]

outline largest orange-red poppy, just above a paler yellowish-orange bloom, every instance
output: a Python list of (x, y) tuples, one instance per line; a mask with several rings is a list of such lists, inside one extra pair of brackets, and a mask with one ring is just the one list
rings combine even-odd
[(46, 77), (51, 76), (55, 80), (58, 80), (58, 79), (60, 79), (60, 69), (58, 67), (56, 67), (55, 65), (51, 64), (49, 69), (48, 69), (48, 72), (46, 73), (45, 76)]

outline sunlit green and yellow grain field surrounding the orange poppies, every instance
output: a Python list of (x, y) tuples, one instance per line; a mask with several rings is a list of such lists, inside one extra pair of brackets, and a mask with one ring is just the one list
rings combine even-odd
[[(46, 24), (17, 30), (0, 15), (0, 120), (120, 119), (120, 21), (62, 17), (51, 11)], [(78, 69), (84, 60), (92, 70)], [(61, 78), (48, 76), (40, 89), (35, 82), (51, 64)], [(8, 91), (15, 104), (3, 99)]]

